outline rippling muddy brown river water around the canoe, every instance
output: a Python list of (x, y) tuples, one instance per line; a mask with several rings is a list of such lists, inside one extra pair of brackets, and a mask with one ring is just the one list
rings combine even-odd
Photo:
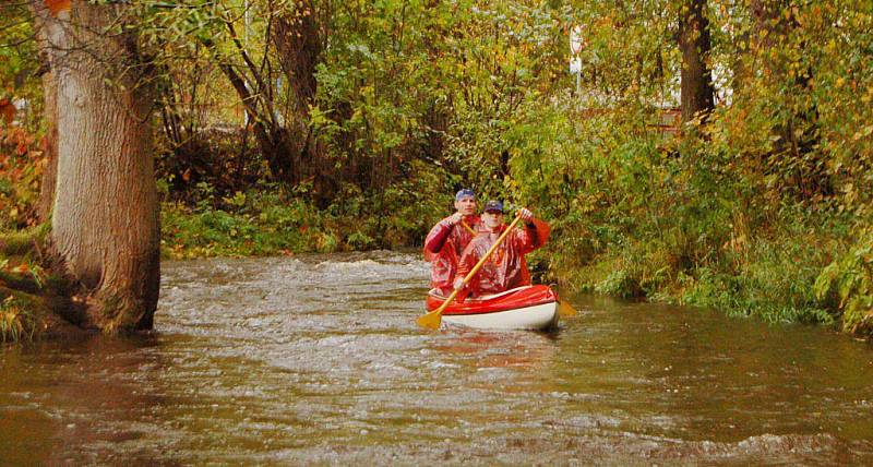
[(873, 348), (578, 297), (424, 332), (415, 254), (164, 266), (155, 336), (0, 350), (0, 464), (872, 464)]

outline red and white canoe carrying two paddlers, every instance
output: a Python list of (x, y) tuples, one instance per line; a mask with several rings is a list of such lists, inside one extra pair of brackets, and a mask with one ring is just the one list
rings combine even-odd
[[(445, 297), (431, 290), (424, 304), (433, 311)], [(558, 294), (549, 286), (525, 286), (505, 292), (468, 297), (451, 303), (442, 320), (480, 330), (547, 330), (558, 324)]]

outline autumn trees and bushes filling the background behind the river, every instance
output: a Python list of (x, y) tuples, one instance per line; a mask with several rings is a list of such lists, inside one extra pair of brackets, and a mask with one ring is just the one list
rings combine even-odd
[[(573, 287), (873, 330), (869, 2), (133, 4), (165, 258), (419, 246), (473, 187), (551, 221), (545, 273)], [(714, 107), (678, 116), (694, 5)], [(8, 231), (46, 164), (25, 7), (0, 47)]]

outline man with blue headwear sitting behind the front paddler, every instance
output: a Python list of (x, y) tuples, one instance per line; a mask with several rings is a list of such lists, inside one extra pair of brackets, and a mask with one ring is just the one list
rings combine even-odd
[(476, 214), (476, 194), (464, 189), (455, 194), (455, 214), (440, 220), (424, 239), (424, 261), (431, 263), (430, 285), (444, 296), (452, 294), (461, 253), (483, 230)]

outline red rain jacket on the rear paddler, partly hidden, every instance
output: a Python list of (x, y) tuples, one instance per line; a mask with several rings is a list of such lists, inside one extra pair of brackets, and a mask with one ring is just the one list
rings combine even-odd
[[(478, 215), (466, 216), (464, 221), (477, 232), (485, 229)], [(452, 292), (452, 284), (457, 273), (457, 262), (470, 240), (473, 240), (473, 234), (461, 223), (454, 226), (449, 224), (449, 217), (440, 220), (430, 229), (430, 234), (424, 239), (424, 261), (431, 263), (431, 287), (439, 289), (444, 295)]]

